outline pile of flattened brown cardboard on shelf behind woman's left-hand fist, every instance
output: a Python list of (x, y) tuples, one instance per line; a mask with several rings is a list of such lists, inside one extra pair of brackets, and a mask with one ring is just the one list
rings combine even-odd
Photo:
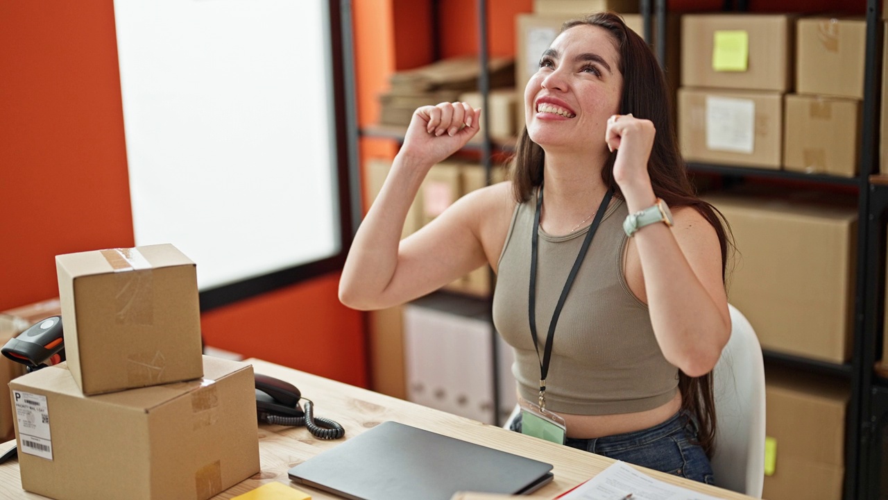
[[(478, 90), (480, 61), (476, 57), (457, 57), (426, 66), (398, 71), (389, 79), (390, 89), (379, 97), (382, 125), (407, 126), (416, 108), (453, 102), (466, 92)], [(488, 61), (490, 88), (514, 85), (514, 60), (492, 58)]]

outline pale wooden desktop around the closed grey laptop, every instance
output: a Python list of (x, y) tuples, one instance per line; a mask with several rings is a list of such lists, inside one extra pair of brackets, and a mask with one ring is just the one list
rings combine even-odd
[[(468, 440), (490, 448), (497, 448), (520, 456), (527, 456), (553, 465), (555, 479), (527, 498), (558, 496), (567, 489), (588, 480), (603, 471), (613, 460), (574, 448), (559, 446), (506, 431), (496, 426), (479, 423), (461, 416), (451, 415), (429, 407), (391, 398), (384, 394), (367, 391), (345, 383), (338, 383), (316, 375), (306, 374), (258, 359), (248, 359), (256, 373), (271, 375), (296, 385), (302, 394), (312, 399), (315, 415), (336, 420), (345, 427), (345, 439), (366, 431), (377, 423), (393, 420), (427, 431), (439, 432), (461, 440)], [(268, 482), (290, 484), (287, 471), (326, 449), (337, 446), (343, 440), (316, 440), (305, 427), (285, 427), (261, 424), (259, 426), (259, 455), (261, 472), (248, 480), (214, 497), (226, 500), (246, 493)], [(726, 500), (749, 500), (750, 496), (715, 488), (694, 481), (683, 480), (662, 472), (645, 470), (658, 480), (664, 480), (685, 488), (691, 488)], [(321, 490), (297, 485), (312, 496), (313, 500), (338, 498)], [(40, 499), (21, 489), (19, 463), (10, 461), (0, 465), (0, 497)]]

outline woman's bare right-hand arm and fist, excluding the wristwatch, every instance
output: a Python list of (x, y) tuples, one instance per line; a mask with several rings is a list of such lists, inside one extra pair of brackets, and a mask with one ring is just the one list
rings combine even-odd
[[(630, 214), (656, 202), (647, 173), (655, 133), (653, 123), (631, 115), (607, 124), (605, 140), (617, 150), (614, 181)], [(671, 228), (651, 224), (631, 238), (643, 277), (636, 292), (647, 303), (663, 355), (686, 375), (708, 373), (731, 333), (715, 229), (693, 207), (683, 207), (673, 211)]]

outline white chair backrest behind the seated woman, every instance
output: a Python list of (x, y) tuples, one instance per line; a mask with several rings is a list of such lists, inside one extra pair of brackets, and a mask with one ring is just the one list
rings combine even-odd
[(713, 369), (716, 485), (756, 498), (765, 481), (765, 365), (756, 332), (731, 311), (731, 338)]

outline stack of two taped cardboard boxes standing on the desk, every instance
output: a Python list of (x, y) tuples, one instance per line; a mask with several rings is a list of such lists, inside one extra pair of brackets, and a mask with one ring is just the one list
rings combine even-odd
[(67, 361), (10, 383), (22, 487), (204, 499), (258, 472), (252, 367), (202, 356), (194, 262), (155, 245), (56, 263)]

